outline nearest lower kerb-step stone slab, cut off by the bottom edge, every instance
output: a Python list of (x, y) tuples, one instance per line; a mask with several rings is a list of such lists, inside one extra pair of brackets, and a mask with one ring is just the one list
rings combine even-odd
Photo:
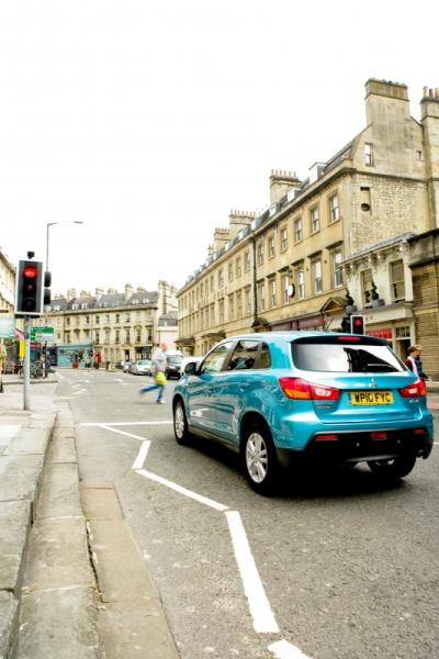
[[(75, 615), (72, 615), (75, 612)], [(98, 659), (97, 608), (91, 588), (23, 595), (15, 659)]]

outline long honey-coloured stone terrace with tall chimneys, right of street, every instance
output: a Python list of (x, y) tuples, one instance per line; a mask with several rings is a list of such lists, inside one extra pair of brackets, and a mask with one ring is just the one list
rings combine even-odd
[(438, 101), (424, 90), (418, 122), (405, 85), (368, 80), (358, 135), (305, 180), (272, 171), (269, 208), (232, 212), (178, 292), (181, 348), (203, 354), (223, 336), (262, 328), (337, 330), (347, 287), (362, 312), (374, 279), (382, 302), (367, 313), (369, 330), (402, 351), (402, 338), (414, 342), (407, 241), (439, 226)]

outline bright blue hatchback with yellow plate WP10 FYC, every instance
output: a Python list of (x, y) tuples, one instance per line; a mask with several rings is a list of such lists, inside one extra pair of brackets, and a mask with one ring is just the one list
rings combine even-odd
[(185, 366), (172, 399), (179, 444), (193, 435), (240, 454), (269, 494), (300, 459), (365, 461), (407, 476), (431, 451), (426, 384), (381, 338), (326, 332), (234, 336)]

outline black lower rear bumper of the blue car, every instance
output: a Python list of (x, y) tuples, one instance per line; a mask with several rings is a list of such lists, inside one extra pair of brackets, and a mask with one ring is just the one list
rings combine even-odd
[[(423, 432), (421, 432), (423, 431)], [(360, 462), (414, 455), (428, 458), (432, 436), (427, 427), (383, 432), (317, 433), (304, 450), (278, 448), (283, 466), (291, 466), (299, 456), (309, 460)]]

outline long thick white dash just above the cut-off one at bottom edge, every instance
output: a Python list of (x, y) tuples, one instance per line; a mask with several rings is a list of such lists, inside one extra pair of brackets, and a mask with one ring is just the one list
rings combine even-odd
[(240, 514), (236, 511), (226, 511), (225, 514), (255, 630), (260, 634), (277, 633), (279, 632), (278, 623), (263, 590)]

